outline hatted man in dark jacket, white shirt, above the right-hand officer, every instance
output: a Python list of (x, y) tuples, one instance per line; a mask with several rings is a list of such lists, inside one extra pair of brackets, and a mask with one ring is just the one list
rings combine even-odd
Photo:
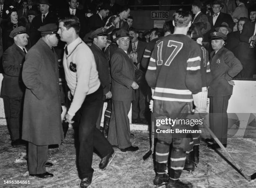
[[(234, 27), (233, 19), (231, 15), (226, 13), (221, 13), (220, 10), (223, 8), (223, 4), (220, 0), (214, 0), (211, 4), (213, 15), (208, 17), (211, 24), (210, 33), (215, 31), (215, 28), (220, 27), (221, 23), (225, 22), (230, 28)], [(209, 33), (209, 34), (210, 34)]]

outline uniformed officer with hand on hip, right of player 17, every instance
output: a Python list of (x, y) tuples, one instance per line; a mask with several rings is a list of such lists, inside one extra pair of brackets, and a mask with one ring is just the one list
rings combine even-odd
[[(210, 97), (209, 121), (210, 129), (227, 146), (228, 134), (228, 100), (233, 93), (234, 81), (232, 80), (241, 70), (242, 64), (235, 55), (224, 48), (227, 36), (220, 32), (211, 35), (212, 53), (210, 54), (210, 69), (212, 81), (208, 90)], [(212, 142), (212, 139), (206, 141)], [(211, 148), (220, 148), (217, 143), (209, 145)]]

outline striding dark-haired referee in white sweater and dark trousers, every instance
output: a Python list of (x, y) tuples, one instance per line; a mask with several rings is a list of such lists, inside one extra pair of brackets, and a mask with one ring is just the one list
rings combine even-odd
[[(87, 188), (92, 183), (94, 148), (102, 158), (100, 169), (106, 168), (114, 150), (95, 126), (102, 105), (103, 84), (100, 84), (92, 51), (79, 38), (79, 26), (77, 17), (64, 18), (59, 20), (58, 33), (60, 39), (67, 43), (63, 56), (63, 67), (72, 100), (65, 119), (68, 123), (78, 124), (78, 170), (79, 177), (82, 179), (80, 187)], [(94, 33), (93, 37), (97, 33), (98, 31)], [(101, 35), (100, 33), (98, 34)], [(110, 93), (108, 96), (110, 97)]]

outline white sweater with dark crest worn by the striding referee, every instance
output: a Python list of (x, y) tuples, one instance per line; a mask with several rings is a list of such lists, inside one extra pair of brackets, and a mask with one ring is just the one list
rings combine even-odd
[[(63, 67), (67, 85), (73, 95), (68, 114), (75, 115), (86, 95), (94, 93), (100, 87), (100, 80), (92, 51), (81, 38), (67, 45), (67, 50), (68, 55), (64, 53), (63, 57)], [(71, 70), (71, 63), (75, 64), (76, 72), (74, 66), (73, 71)]]

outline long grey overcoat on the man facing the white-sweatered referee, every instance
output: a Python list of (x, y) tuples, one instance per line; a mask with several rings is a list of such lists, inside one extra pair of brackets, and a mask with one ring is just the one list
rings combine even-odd
[(22, 139), (35, 145), (63, 140), (56, 53), (39, 39), (27, 53), (22, 79), (26, 85)]

